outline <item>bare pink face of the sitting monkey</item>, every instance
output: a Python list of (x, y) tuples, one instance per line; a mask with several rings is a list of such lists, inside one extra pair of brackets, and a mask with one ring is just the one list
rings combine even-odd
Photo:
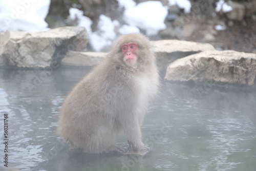
[(128, 44), (123, 44), (121, 47), (121, 50), (124, 54), (123, 60), (127, 65), (133, 65), (136, 63), (136, 55), (135, 52), (137, 50), (138, 46), (134, 42), (130, 42)]

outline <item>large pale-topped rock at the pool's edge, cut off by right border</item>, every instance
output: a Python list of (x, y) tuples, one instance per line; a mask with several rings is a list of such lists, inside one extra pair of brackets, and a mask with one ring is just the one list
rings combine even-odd
[(255, 86), (256, 54), (206, 51), (177, 59), (166, 71), (169, 81), (190, 81)]

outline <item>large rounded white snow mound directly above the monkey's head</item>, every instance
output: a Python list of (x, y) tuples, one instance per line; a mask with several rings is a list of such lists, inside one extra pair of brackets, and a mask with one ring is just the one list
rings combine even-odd
[(164, 7), (161, 2), (147, 1), (126, 8), (123, 20), (131, 26), (145, 30), (147, 35), (156, 35), (159, 30), (166, 28), (164, 19), (167, 13), (167, 7)]

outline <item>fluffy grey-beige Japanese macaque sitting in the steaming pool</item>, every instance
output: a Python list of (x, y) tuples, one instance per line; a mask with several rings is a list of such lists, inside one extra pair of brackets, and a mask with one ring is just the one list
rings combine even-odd
[(108, 151), (121, 131), (131, 151), (148, 150), (140, 127), (158, 87), (156, 56), (148, 38), (140, 33), (122, 35), (67, 96), (58, 133), (86, 153)]

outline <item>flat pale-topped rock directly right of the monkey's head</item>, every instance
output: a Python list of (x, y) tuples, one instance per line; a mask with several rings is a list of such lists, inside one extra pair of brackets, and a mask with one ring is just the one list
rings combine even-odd
[(167, 66), (176, 59), (202, 51), (215, 50), (210, 44), (182, 40), (158, 40), (152, 41), (152, 44), (158, 58), (160, 73), (164, 75)]

